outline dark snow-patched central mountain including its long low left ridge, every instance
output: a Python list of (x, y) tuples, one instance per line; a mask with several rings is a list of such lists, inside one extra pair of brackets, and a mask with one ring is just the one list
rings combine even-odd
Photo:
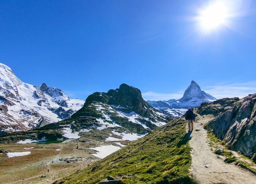
[(136, 140), (169, 120), (170, 116), (142, 98), (138, 88), (121, 84), (116, 90), (89, 95), (84, 106), (70, 118), (28, 130), (19, 136), (9, 134), (0, 138), (0, 142), (23, 144), (62, 138), (88, 142), (89, 136), (102, 141)]

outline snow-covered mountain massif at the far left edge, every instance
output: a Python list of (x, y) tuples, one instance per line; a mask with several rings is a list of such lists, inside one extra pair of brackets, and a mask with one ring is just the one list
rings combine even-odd
[(29, 130), (70, 117), (84, 104), (59, 88), (22, 82), (0, 63), (0, 134)]

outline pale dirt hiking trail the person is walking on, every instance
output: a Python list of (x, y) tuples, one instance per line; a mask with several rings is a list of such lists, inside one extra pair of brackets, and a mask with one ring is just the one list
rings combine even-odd
[[(213, 119), (207, 115), (200, 115), (194, 122), (189, 144), (191, 147), (192, 165), (190, 174), (200, 184), (256, 184), (256, 175), (232, 164), (226, 164), (219, 159), (209, 146), (207, 132), (204, 124)], [(188, 125), (187, 125), (188, 131)], [(213, 148), (214, 150), (215, 148)]]

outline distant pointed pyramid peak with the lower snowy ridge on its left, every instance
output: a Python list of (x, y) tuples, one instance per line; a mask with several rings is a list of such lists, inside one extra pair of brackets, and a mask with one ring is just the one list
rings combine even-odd
[(214, 100), (216, 100), (216, 98), (202, 91), (200, 86), (192, 80), (190, 86), (188, 86), (184, 92), (183, 97), (179, 100), (148, 100), (147, 102), (152, 107), (157, 108), (172, 117), (180, 117), (186, 112), (187, 108), (200, 106), (203, 102), (213, 102)]

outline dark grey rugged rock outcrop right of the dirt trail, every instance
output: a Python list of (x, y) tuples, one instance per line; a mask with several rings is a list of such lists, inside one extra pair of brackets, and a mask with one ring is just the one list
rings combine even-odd
[(217, 100), (200, 106), (198, 112), (216, 116), (207, 128), (212, 129), (217, 138), (225, 140), (230, 149), (249, 157), (256, 152), (256, 94), (241, 100)]

